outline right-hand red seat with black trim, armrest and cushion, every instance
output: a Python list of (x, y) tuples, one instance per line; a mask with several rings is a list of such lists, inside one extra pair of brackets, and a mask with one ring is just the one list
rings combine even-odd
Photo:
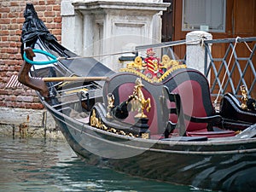
[[(215, 113), (209, 91), (208, 81), (201, 73), (190, 70), (178, 73), (171, 79), (176, 86), (166, 86), (169, 95), (169, 121), (172, 127), (179, 127), (180, 136), (231, 137), (235, 131), (213, 131), (212, 125), (220, 123), (221, 116)], [(169, 84), (171, 84), (169, 82)], [(179, 96), (171, 101), (170, 96)], [(177, 108), (179, 110), (173, 110)], [(172, 113), (174, 112), (174, 113)], [(177, 122), (177, 116), (178, 122)], [(174, 124), (174, 125), (173, 125)], [(184, 126), (184, 127), (183, 127)], [(181, 130), (180, 130), (181, 129)], [(173, 131), (173, 129), (170, 129)]]

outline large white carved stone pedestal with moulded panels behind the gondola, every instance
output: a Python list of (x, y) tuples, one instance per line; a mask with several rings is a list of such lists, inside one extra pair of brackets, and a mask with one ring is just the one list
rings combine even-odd
[[(62, 28), (62, 32), (66, 34), (63, 43), (68, 44), (68, 48), (71, 47), (72, 50), (82, 46), (79, 54), (82, 56), (112, 54), (133, 50), (137, 45), (160, 43), (160, 15), (170, 5), (162, 3), (162, 0), (65, 0), (62, 4), (67, 2), (68, 6), (70, 3), (73, 5), (73, 15), (61, 10), (65, 17), (63, 22), (68, 21), (68, 25), (63, 24), (68, 30)], [(64, 6), (61, 9), (65, 9)], [(73, 21), (67, 20), (68, 16), (73, 17)], [(81, 26), (76, 26), (79, 23)], [(73, 40), (73, 46), (69, 46)], [(122, 55), (96, 59), (118, 71), (122, 67), (119, 63), (120, 56)]]

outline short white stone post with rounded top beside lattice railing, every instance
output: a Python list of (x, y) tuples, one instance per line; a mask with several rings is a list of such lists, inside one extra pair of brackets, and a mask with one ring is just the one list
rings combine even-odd
[(187, 33), (186, 64), (187, 67), (195, 68), (199, 70), (201, 73), (204, 73), (205, 46), (201, 44), (202, 39), (212, 40), (212, 34), (203, 31), (194, 31)]

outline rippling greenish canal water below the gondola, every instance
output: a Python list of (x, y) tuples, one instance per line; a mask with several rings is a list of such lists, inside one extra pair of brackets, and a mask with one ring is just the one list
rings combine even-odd
[(0, 191), (200, 192), (86, 165), (65, 141), (0, 137)]

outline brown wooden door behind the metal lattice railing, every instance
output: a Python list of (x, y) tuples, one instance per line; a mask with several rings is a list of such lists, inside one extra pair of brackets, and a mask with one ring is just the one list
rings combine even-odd
[[(183, 0), (173, 0), (173, 17), (174, 17), (174, 34), (173, 40), (185, 39), (188, 32), (182, 31), (182, 16), (183, 16)], [(211, 32), (213, 39), (218, 38), (246, 38), (256, 36), (256, 1), (255, 0), (226, 0), (226, 15), (225, 15), (225, 31), (224, 32)], [(248, 44), (251, 48), (254, 43)], [(212, 56), (213, 58), (223, 58), (229, 44), (213, 44)], [(183, 57), (185, 54), (185, 47), (178, 46), (175, 49), (178, 56)], [(246, 44), (236, 44), (236, 54), (239, 57), (248, 57), (250, 54)], [(230, 55), (229, 55), (230, 56)], [(228, 58), (229, 58), (228, 56)], [(253, 65), (255, 67), (256, 56), (253, 56)], [(234, 61), (234, 60), (233, 60)], [(232, 64), (233, 61), (230, 63)], [(227, 61), (228, 62), (228, 61)], [(221, 62), (217, 63), (219, 67)], [(241, 70), (244, 69), (246, 62), (241, 61)], [(232, 64), (233, 65), (233, 64)], [(232, 67), (232, 66), (230, 66)], [(224, 73), (222, 73), (224, 76)], [(211, 79), (213, 79), (212, 77)], [(238, 73), (237, 68), (232, 76), (235, 87), (239, 83), (241, 76)], [(253, 73), (251, 68), (247, 69), (245, 80), (250, 86), (253, 83)], [(226, 81), (226, 80), (225, 80)], [(211, 82), (212, 84), (212, 82)], [(229, 89), (230, 90), (230, 87)], [(218, 87), (216, 87), (218, 91)], [(254, 88), (252, 96), (256, 97), (256, 88)]]

